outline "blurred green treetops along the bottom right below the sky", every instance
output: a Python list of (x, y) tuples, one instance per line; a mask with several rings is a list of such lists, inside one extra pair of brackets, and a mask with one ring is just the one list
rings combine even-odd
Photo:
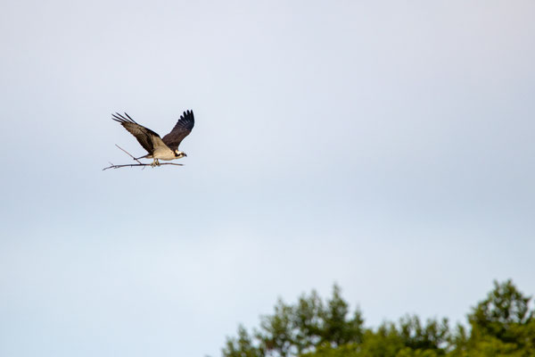
[(350, 314), (339, 286), (324, 302), (315, 291), (295, 304), (279, 300), (259, 330), (227, 338), (224, 357), (532, 357), (535, 311), (511, 280), (494, 283), (468, 315), (470, 328), (447, 319), (405, 316), (398, 323), (364, 328), (359, 309)]

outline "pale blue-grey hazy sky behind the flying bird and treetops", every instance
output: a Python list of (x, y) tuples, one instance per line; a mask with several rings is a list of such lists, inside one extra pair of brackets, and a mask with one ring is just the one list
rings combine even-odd
[[(367, 326), (535, 294), (535, 3), (4, 1), (0, 355), (219, 355), (338, 282)], [(110, 119), (166, 134), (184, 167)]]

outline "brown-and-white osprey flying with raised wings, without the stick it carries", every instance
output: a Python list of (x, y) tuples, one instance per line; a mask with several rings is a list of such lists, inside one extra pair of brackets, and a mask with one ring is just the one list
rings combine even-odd
[[(195, 120), (193, 111), (185, 111), (177, 121), (175, 128), (165, 137), (161, 138), (151, 129), (139, 125), (125, 112), (126, 118), (116, 112), (111, 114), (111, 119), (118, 121), (120, 125), (127, 129), (130, 134), (136, 137), (139, 144), (149, 153), (137, 159), (154, 159), (151, 166), (160, 166), (159, 160), (175, 160), (187, 156), (184, 152), (178, 151), (178, 145), (185, 137), (192, 132)], [(136, 160), (137, 160), (136, 159)]]

